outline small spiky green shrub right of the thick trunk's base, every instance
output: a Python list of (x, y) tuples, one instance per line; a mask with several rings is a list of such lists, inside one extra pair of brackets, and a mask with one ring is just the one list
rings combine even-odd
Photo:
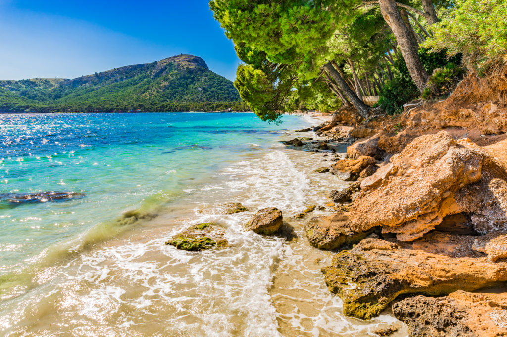
[(454, 63), (448, 63), (443, 68), (437, 68), (428, 80), (422, 98), (441, 97), (450, 93), (463, 78), (463, 68)]

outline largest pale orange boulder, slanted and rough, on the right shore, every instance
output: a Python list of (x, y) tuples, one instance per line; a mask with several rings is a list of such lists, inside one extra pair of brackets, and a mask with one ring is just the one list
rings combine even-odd
[(424, 135), (361, 181), (350, 228), (381, 226), (383, 233), (412, 241), (446, 216), (467, 212), (480, 233), (507, 231), (506, 179), (479, 146), (445, 131)]

